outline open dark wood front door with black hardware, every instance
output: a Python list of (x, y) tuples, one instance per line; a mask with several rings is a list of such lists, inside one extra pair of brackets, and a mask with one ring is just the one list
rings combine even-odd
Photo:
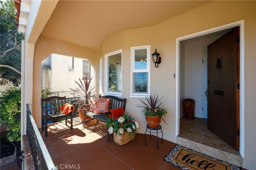
[(239, 149), (239, 27), (208, 45), (207, 126)]

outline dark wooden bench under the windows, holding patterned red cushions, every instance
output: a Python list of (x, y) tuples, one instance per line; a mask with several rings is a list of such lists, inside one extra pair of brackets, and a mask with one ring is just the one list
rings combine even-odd
[[(111, 111), (110, 111), (111, 109), (117, 109), (117, 108), (123, 107), (124, 110), (125, 110), (126, 98), (121, 99), (121, 98), (118, 98), (116, 96), (103, 96), (103, 98), (110, 98), (110, 106), (109, 106), (108, 112), (98, 114), (98, 113), (94, 113), (92, 111), (87, 111), (87, 110), (90, 110), (90, 108), (88, 108), (88, 107), (90, 107), (90, 105), (84, 105), (82, 107), (82, 109), (83, 109), (83, 119), (84, 119), (84, 115), (92, 117), (91, 119), (86, 119), (86, 120), (83, 121), (83, 127), (85, 127), (85, 122), (90, 121), (92, 119), (96, 119), (97, 122), (101, 121), (103, 123), (106, 123), (108, 115), (111, 114)], [(109, 142), (109, 134), (108, 134), (108, 127), (107, 126), (106, 126), (106, 141)]]

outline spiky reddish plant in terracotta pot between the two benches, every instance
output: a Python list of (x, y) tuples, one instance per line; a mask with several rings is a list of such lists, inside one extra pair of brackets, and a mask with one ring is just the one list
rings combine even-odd
[[(95, 88), (96, 86), (90, 86), (90, 83), (92, 81), (92, 78), (88, 80), (87, 76), (83, 77), (81, 80), (79, 78), (79, 82), (75, 81), (78, 87), (75, 89), (70, 88), (70, 90), (74, 91), (74, 94), (76, 94), (76, 97), (79, 97), (80, 99), (74, 103), (74, 105), (78, 106), (78, 114), (83, 122), (83, 115), (82, 115), (82, 107), (85, 107), (88, 111), (90, 109), (90, 98), (94, 96)], [(90, 117), (87, 117), (88, 119)]]

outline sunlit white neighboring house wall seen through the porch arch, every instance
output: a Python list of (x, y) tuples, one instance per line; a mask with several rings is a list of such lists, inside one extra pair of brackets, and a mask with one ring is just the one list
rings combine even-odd
[[(75, 95), (70, 92), (70, 88), (77, 87), (75, 81), (83, 78), (83, 60), (80, 58), (52, 54), (42, 61), (42, 89), (49, 89), (53, 95), (66, 96), (72, 98)], [(74, 68), (73, 68), (74, 66)], [(91, 84), (94, 85), (95, 71), (90, 66), (92, 78)]]

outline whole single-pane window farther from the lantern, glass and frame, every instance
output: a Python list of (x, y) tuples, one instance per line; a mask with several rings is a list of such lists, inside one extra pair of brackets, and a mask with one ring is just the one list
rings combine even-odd
[(121, 96), (122, 49), (105, 55), (105, 93)]

